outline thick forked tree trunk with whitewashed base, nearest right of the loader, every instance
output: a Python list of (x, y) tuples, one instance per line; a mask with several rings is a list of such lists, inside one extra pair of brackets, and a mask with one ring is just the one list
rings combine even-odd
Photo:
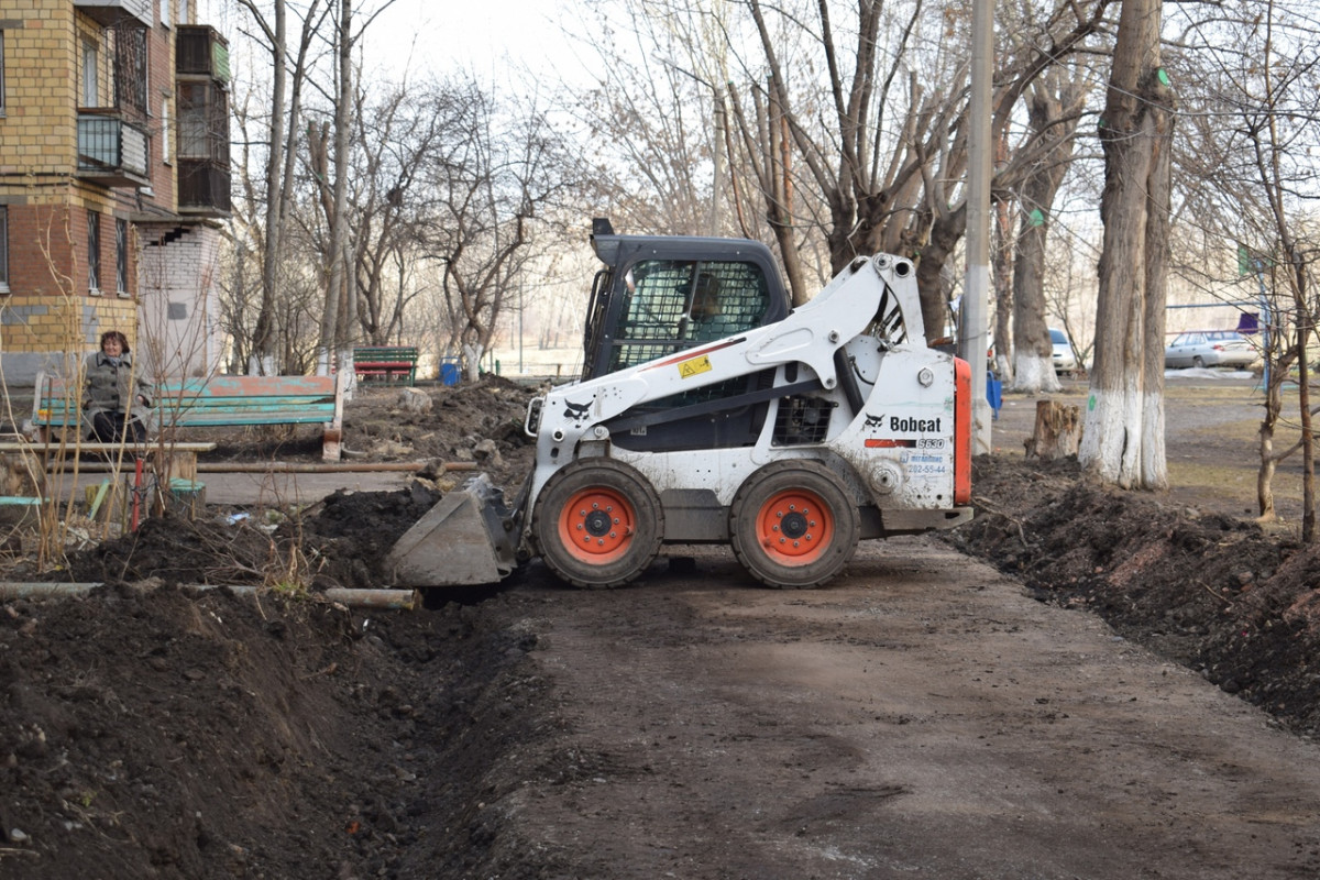
[(1160, 0), (1123, 0), (1100, 139), (1105, 243), (1096, 367), (1078, 459), (1123, 488), (1163, 489), (1164, 253), (1173, 95), (1160, 67)]

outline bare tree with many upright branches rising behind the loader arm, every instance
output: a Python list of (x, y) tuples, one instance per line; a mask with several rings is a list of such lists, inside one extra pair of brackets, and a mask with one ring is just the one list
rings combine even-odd
[[(923, 318), (928, 330), (939, 335), (948, 315), (945, 264), (966, 228), (961, 181), (968, 162), (966, 58), (942, 46), (960, 45), (957, 38), (948, 38), (946, 29), (965, 30), (965, 11), (946, 7), (928, 17), (917, 3), (895, 22), (883, 4), (863, 3), (857, 8), (855, 21), (837, 28), (826, 3), (816, 4), (814, 15), (805, 9), (795, 15), (776, 7), (775, 22), (760, 0), (747, 0), (747, 8), (759, 37), (759, 63), (768, 71), (764, 90), (774, 96), (774, 103), (767, 98), (766, 104), (787, 120), (795, 154), (804, 169), (797, 191), (809, 183), (810, 201), (828, 206), (820, 231), (829, 245), (832, 269), (840, 270), (858, 253), (876, 251), (916, 257)], [(1016, 102), (1036, 78), (1097, 32), (1106, 9), (1107, 0), (1059, 3), (1039, 21), (1023, 16), (1020, 30), (998, 53), (993, 98), (995, 132), (1007, 128)], [(808, 75), (805, 79), (812, 88), (791, 90), (792, 74), (781, 58), (779, 32), (785, 28), (805, 30), (807, 21), (812, 25), (808, 38), (817, 41), (810, 58), (818, 57), (826, 71), (829, 124), (817, 121), (817, 117), (824, 120), (826, 112), (818, 106), (817, 80)], [(887, 41), (880, 38), (886, 22)], [(927, 34), (923, 28), (939, 32)], [(847, 51), (838, 44), (837, 33), (854, 36), (855, 42)], [(923, 58), (920, 80), (916, 74), (900, 75), (904, 67), (917, 63), (911, 44), (919, 36), (941, 46)], [(887, 55), (879, 51), (886, 44)], [(750, 57), (743, 63), (748, 70), (754, 67)], [(738, 116), (741, 125), (750, 117), (742, 112)], [(892, 129), (887, 128), (890, 124)], [(888, 132), (888, 136), (880, 137), (876, 132)], [(997, 169), (993, 187), (1003, 191), (1014, 186), (1032, 166), (1039, 149), (1038, 144), (1015, 149)], [(779, 206), (777, 193), (763, 189), (763, 195), (774, 211)], [(791, 235), (800, 237), (803, 226), (795, 218)]]

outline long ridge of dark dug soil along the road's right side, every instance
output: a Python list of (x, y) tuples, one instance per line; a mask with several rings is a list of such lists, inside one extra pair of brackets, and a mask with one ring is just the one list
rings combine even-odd
[(977, 519), (950, 537), (964, 551), (1320, 731), (1320, 548), (1096, 484), (1074, 460), (987, 456), (973, 486)]

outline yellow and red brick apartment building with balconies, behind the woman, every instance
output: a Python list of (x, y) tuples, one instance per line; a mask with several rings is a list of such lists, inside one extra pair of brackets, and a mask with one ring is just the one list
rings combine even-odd
[(0, 369), (123, 330), (152, 377), (220, 361), (228, 46), (194, 0), (0, 0)]

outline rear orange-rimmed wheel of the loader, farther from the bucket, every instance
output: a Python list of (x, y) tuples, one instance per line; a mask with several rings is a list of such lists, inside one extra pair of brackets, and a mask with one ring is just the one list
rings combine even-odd
[(729, 511), (734, 555), (770, 587), (809, 590), (853, 558), (861, 516), (843, 482), (820, 462), (772, 462), (747, 478)]

